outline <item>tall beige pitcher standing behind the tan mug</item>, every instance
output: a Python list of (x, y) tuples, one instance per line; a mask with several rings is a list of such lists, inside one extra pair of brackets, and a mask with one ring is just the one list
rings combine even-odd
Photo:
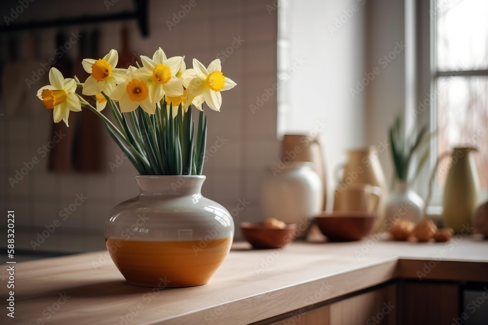
[[(341, 170), (343, 171), (341, 174)], [(351, 184), (370, 184), (379, 186), (382, 195), (378, 204), (378, 218), (373, 231), (382, 228), (384, 220), (384, 206), (388, 193), (385, 175), (378, 159), (378, 152), (374, 146), (351, 149), (347, 151), (346, 163), (339, 165), (335, 170), (337, 191), (345, 191)]]

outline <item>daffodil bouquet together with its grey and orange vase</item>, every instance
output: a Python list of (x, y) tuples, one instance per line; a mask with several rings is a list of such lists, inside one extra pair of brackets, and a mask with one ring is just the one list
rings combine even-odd
[[(116, 50), (84, 59), (90, 76), (83, 83), (52, 68), (51, 85), (38, 97), (55, 122), (68, 125), (69, 113), (81, 108), (98, 115), (140, 174), (140, 195), (116, 206), (105, 223), (107, 249), (125, 279), (148, 287), (202, 285), (234, 236), (230, 213), (201, 194), (203, 103), (219, 111), (221, 92), (236, 83), (223, 75), (220, 59), (208, 67), (193, 59), (193, 69), (186, 69), (184, 57), (167, 58), (161, 48), (152, 58), (141, 56), (142, 66), (117, 69), (117, 61)], [(77, 87), (94, 96), (96, 107), (76, 94)], [(107, 104), (115, 124), (101, 113)], [(197, 123), (193, 108), (200, 111)]]

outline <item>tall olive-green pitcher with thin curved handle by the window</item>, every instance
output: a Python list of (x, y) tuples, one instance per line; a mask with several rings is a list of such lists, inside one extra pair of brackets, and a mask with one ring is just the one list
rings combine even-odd
[[(432, 183), (435, 176), (446, 170), (437, 171), (439, 162), (451, 157), (451, 164), (447, 172), (444, 194), (442, 197), (442, 217), (446, 227), (454, 229), (455, 233), (468, 234), (472, 227), (472, 215), (479, 200), (479, 178), (471, 155), (475, 148), (454, 148), (439, 156), (429, 182), (426, 209), (432, 195)], [(465, 230), (463, 230), (465, 229)]]

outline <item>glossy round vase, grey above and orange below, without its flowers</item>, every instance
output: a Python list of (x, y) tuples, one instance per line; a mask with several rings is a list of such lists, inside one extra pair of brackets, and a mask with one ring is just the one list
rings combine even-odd
[(205, 176), (136, 176), (140, 194), (105, 222), (106, 246), (128, 283), (190, 287), (208, 282), (227, 256), (234, 222), (202, 196)]

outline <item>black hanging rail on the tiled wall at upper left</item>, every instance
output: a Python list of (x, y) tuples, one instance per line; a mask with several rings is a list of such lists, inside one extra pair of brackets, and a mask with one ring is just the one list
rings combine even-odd
[(2, 26), (0, 33), (136, 19), (142, 36), (147, 37), (149, 36), (148, 0), (134, 0), (134, 4), (136, 8), (133, 11), (122, 11), (117, 14), (83, 15), (51, 20), (32, 20), (18, 24), (12, 23), (10, 26)]

